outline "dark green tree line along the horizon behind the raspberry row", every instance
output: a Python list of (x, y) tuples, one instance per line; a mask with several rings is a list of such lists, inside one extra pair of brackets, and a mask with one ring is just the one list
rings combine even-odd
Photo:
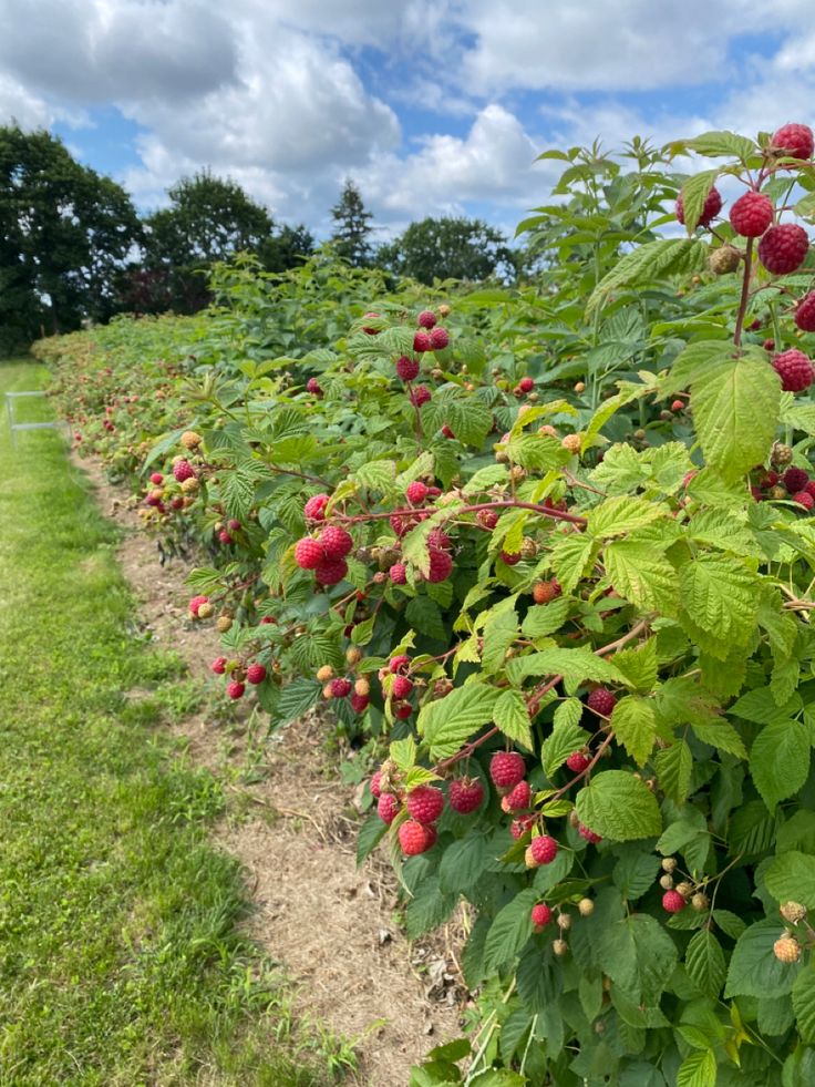
[[(58, 136), (0, 127), (0, 352), (116, 312), (194, 312), (209, 301), (214, 263), (245, 252), (281, 273), (317, 247), (305, 225), (275, 223), (240, 185), (208, 170), (180, 178), (167, 197), (140, 215), (121, 185), (76, 162)], [(331, 219), (338, 256), (429, 285), (514, 278), (526, 260), (477, 218), (425, 218), (378, 245), (351, 180)]]

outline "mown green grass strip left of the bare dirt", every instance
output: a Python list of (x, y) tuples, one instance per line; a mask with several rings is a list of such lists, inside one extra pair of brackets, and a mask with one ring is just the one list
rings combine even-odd
[[(4, 363), (0, 397), (45, 380)], [(190, 704), (183, 669), (132, 633), (115, 530), (55, 433), (14, 453), (0, 422), (0, 1085), (336, 1083), (350, 1049), (296, 1027), (240, 934), (220, 785), (156, 728)]]

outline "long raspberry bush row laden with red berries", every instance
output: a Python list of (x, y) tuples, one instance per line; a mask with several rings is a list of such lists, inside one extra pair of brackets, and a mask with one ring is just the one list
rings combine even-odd
[(381, 752), (409, 934), (467, 903), (416, 1087), (815, 1078), (807, 132), (548, 153), (517, 291), (224, 269), (152, 452), (92, 424), (226, 694)]

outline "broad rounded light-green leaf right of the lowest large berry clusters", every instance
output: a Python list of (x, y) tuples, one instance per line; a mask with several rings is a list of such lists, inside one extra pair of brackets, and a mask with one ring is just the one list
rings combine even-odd
[(603, 770), (577, 794), (577, 813), (596, 834), (615, 842), (657, 838), (659, 804), (648, 786), (625, 770)]

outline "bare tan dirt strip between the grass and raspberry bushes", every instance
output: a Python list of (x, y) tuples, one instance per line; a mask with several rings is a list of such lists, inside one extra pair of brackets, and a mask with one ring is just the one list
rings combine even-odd
[(219, 643), (212, 626), (187, 619), (188, 567), (179, 560), (161, 566), (126, 495), (99, 464), (74, 464), (90, 476), (103, 512), (125, 530), (118, 557), (153, 639), (178, 653), (213, 691), (209, 709), (187, 720), (182, 736), (190, 757), (243, 801), (243, 818), (226, 820), (216, 840), (246, 868), (258, 907), (252, 935), (287, 967), (300, 1014), (357, 1040), (360, 1084), (406, 1085), (411, 1064), (460, 1033), (465, 994), (452, 950), (460, 932), (451, 927), (410, 944), (394, 921), (390, 868), (374, 857), (357, 869), (354, 790), (341, 785), (340, 757), (331, 763), (319, 715), (282, 730), (256, 756), (260, 772), (252, 777), (260, 780), (236, 783), (250, 730), (225, 728), (220, 710), (214, 712), (220, 704), (208, 664)]

